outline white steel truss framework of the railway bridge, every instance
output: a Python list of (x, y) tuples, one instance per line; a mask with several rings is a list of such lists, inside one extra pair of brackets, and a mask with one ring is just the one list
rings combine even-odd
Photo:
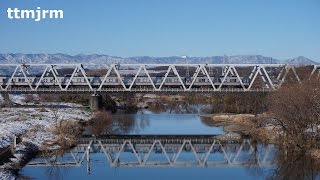
[[(256, 82), (258, 77), (261, 77), (264, 82), (265, 87), (261, 87), (261, 89), (268, 89), (270, 91), (276, 90), (285, 82), (285, 80), (288, 76), (288, 73), (290, 71), (293, 72), (294, 77), (296, 78), (297, 82), (301, 83), (301, 80), (295, 70), (295, 67), (291, 66), (291, 65), (286, 65), (286, 64), (111, 64), (110, 66), (106, 67), (106, 69), (108, 69), (107, 73), (101, 78), (102, 81), (98, 85), (98, 88), (92, 87), (92, 84), (91, 84), (90, 80), (88, 79), (88, 77), (86, 75), (86, 71), (83, 68), (82, 64), (0, 64), (0, 67), (9, 67), (9, 66), (15, 67), (15, 70), (14, 70), (13, 74), (10, 76), (9, 81), (0, 86), (0, 91), (4, 91), (4, 92), (11, 91), (10, 88), (13, 86), (12, 80), (17, 75), (18, 71), (22, 73), (22, 75), (23, 75), (22, 78), (25, 79), (25, 82), (27, 82), (27, 85), (29, 87), (29, 88), (26, 88), (25, 91), (30, 91), (30, 92), (40, 91), (41, 83), (42, 83), (43, 79), (46, 77), (47, 73), (52, 73), (52, 76), (55, 78), (55, 86), (58, 88), (58, 90), (55, 88), (54, 92), (56, 92), (56, 91), (64, 91), (64, 92), (77, 91), (77, 90), (72, 90), (72, 88), (70, 88), (70, 85), (71, 85), (73, 78), (76, 77), (79, 72), (82, 74), (82, 76), (84, 78), (84, 82), (86, 82), (86, 86), (85, 86), (86, 91), (94, 92), (94, 93), (112, 91), (112, 88), (108, 87), (109, 83), (106, 81), (107, 78), (114, 77), (114, 76), (111, 76), (112, 72), (114, 72), (116, 74), (116, 77), (118, 78), (120, 85), (122, 87), (122, 88), (118, 88), (118, 91), (128, 91), (128, 92), (135, 91), (134, 85), (135, 85), (136, 80), (139, 77), (140, 73), (144, 73), (146, 75), (145, 78), (147, 78), (148, 82), (150, 82), (150, 85), (146, 85), (146, 86), (147, 86), (147, 88), (149, 88), (148, 91), (152, 91), (152, 92), (162, 92), (162, 91), (168, 91), (168, 90), (170, 91), (170, 89), (176, 90), (179, 92), (197, 91), (197, 89), (194, 88), (194, 84), (195, 84), (196, 78), (199, 76), (200, 72), (204, 75), (204, 77), (206, 77), (208, 79), (208, 82), (205, 85), (208, 92), (209, 91), (210, 92), (211, 91), (212, 92), (224, 91), (226, 88), (223, 88), (223, 85), (226, 83), (226, 80), (230, 75), (237, 77), (237, 79), (240, 82), (240, 86), (241, 86), (240, 88), (237, 88), (237, 89), (240, 91), (244, 91), (244, 92), (254, 90), (252, 86)], [(28, 67), (30, 67), (30, 66), (43, 67), (43, 69), (44, 69), (39, 81), (35, 85), (32, 85), (31, 82), (28, 80), (28, 78), (32, 78), (32, 77), (27, 76)], [(138, 71), (136, 73), (134, 73), (134, 78), (130, 84), (125, 84), (123, 82), (121, 70), (119, 70), (120, 66), (134, 67), (134, 68), (138, 69)], [(58, 71), (57, 71), (57, 67), (73, 68), (73, 73), (71, 74), (71, 77), (67, 81), (67, 84), (62, 85), (61, 82), (59, 82), (58, 79), (62, 78), (62, 77), (59, 76)], [(163, 77), (161, 77), (160, 85), (155, 84), (155, 82), (153, 81), (153, 79), (150, 76), (150, 71), (148, 71), (147, 67), (167, 67), (166, 73), (164, 74)], [(192, 81), (191, 81), (190, 85), (187, 85), (186, 83), (183, 82), (183, 76), (181, 76), (179, 74), (177, 67), (183, 67), (183, 68), (195, 67), (196, 68), (194, 74), (192, 75)], [(243, 68), (243, 67), (248, 67), (248, 68), (253, 67), (251, 74), (249, 75), (249, 79), (250, 79), (249, 85), (244, 84), (243, 80), (241, 79), (241, 76), (239, 75), (239, 73), (237, 71), (237, 68)], [(278, 74), (277, 79), (276, 79), (279, 81), (278, 84), (273, 82), (268, 71), (266, 70), (266, 68), (275, 68), (275, 67), (281, 68), (281, 71)], [(317, 77), (320, 77), (319, 67), (320, 67), (320, 65), (314, 65), (314, 68), (310, 74), (310, 77), (312, 75), (314, 75), (317, 70), (318, 70)], [(209, 68), (209, 69), (223, 68), (224, 69), (222, 81), (219, 84), (217, 84), (217, 82), (212, 81), (212, 78), (214, 78), (214, 77), (212, 75), (210, 75), (210, 73), (208, 73), (207, 68)], [(180, 85), (180, 88), (169, 87), (169, 89), (168, 89), (168, 87), (166, 87), (164, 89), (163, 87), (165, 85), (165, 82), (168, 78), (169, 73), (171, 73), (171, 72), (173, 72), (175, 77), (178, 78), (178, 81), (179, 81), (178, 83)], [(283, 72), (284, 72), (284, 74), (283, 74)], [(170, 86), (170, 85), (168, 85), (168, 86)], [(74, 86), (73, 86), (73, 88), (74, 88)], [(42, 88), (42, 90), (43, 90), (43, 88)], [(49, 90), (47, 92), (50, 92)], [(82, 89), (82, 91), (83, 91), (83, 89)]]

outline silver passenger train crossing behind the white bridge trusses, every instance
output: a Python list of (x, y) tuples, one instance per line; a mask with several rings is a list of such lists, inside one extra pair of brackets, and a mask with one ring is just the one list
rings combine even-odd
[[(224, 79), (225, 78), (225, 79)], [(241, 79), (242, 82), (240, 82), (239, 78)], [(237, 76), (218, 76), (218, 77), (210, 77), (211, 82), (215, 86), (219, 86), (222, 82), (223, 85), (222, 87), (228, 87), (228, 88), (237, 88), (241, 87), (241, 83), (244, 86), (249, 86), (251, 80), (249, 77), (237, 77)], [(0, 77), (0, 85), (5, 87), (11, 77)], [(11, 86), (19, 86), (19, 87), (29, 87), (29, 84), (32, 86), (36, 86), (39, 81), (40, 86), (42, 87), (50, 87), (50, 86), (57, 86), (58, 83), (61, 84), (62, 87), (67, 86), (69, 84), (69, 87), (72, 86), (88, 86), (88, 83), (93, 88), (98, 88), (102, 82), (103, 85), (107, 85), (109, 87), (118, 87), (122, 86), (122, 83), (125, 86), (130, 86), (132, 82), (134, 81), (135, 86), (150, 86), (152, 85), (150, 79), (152, 80), (153, 84), (155, 86), (160, 86), (161, 84), (163, 86), (170, 86), (170, 87), (179, 87), (182, 85), (182, 83), (185, 86), (190, 86), (192, 84), (192, 87), (194, 88), (201, 88), (203, 86), (210, 86), (211, 82), (210, 79), (207, 76), (198, 76), (195, 79), (193, 77), (167, 77), (165, 78), (165, 81), (163, 82), (163, 77), (157, 77), (157, 76), (139, 76), (136, 79), (133, 76), (125, 76), (120, 78), (115, 76), (115, 77), (107, 77), (104, 81), (103, 77), (98, 77), (98, 76), (91, 76), (91, 77), (72, 77), (71, 75), (66, 75), (64, 77), (43, 77), (41, 76), (36, 76), (36, 77), (13, 77), (11, 80)], [(70, 83), (69, 83), (70, 82)]]

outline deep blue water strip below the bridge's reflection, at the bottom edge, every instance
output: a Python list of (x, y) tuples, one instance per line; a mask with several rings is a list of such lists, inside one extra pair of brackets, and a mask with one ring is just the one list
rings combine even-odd
[[(256, 176), (254, 171), (246, 167), (174, 167), (174, 168), (110, 168), (102, 153), (91, 155), (91, 174), (87, 174), (86, 163), (80, 167), (60, 167), (56, 175), (48, 175), (47, 167), (25, 167), (21, 174), (35, 179), (265, 179)], [(265, 169), (266, 170), (266, 169)], [(41, 172), (41, 173), (39, 173)]]

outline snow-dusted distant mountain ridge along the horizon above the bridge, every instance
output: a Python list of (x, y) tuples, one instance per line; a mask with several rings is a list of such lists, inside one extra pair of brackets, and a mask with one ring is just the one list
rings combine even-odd
[(68, 55), (68, 54), (22, 54), (22, 53), (8, 53), (0, 54), (0, 64), (14, 64), (14, 63), (82, 63), (88, 65), (105, 65), (112, 63), (145, 63), (145, 64), (186, 64), (186, 63), (210, 63), (210, 64), (296, 64), (296, 65), (312, 65), (319, 64), (311, 59), (303, 56), (288, 60), (278, 60), (272, 57), (265, 57), (261, 55), (236, 55), (236, 56), (210, 56), (210, 57), (150, 57), (150, 56), (136, 56), (136, 57), (117, 57), (109, 55)]

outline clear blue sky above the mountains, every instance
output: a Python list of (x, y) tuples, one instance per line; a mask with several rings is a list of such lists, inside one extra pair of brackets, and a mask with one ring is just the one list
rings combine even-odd
[[(9, 20), (7, 8), (64, 19)], [(1, 0), (1, 53), (304, 55), (320, 61), (319, 0)]]

